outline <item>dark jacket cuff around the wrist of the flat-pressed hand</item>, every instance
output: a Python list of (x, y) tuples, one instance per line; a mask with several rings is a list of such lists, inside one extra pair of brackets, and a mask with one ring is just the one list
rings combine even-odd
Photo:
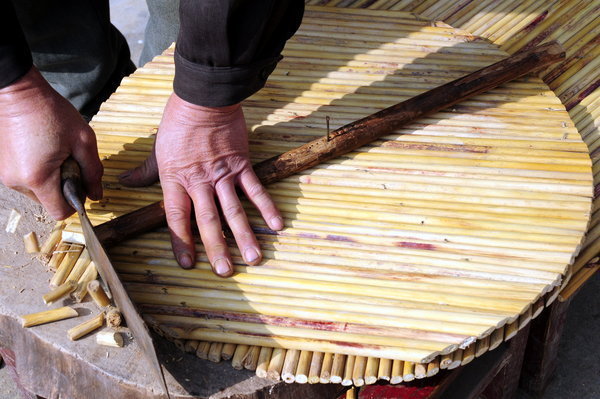
[(211, 67), (191, 62), (175, 48), (175, 94), (205, 107), (224, 107), (242, 102), (260, 90), (281, 56), (250, 65)]

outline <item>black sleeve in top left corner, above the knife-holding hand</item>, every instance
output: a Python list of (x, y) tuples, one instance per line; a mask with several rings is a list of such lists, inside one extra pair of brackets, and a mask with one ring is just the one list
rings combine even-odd
[(0, 88), (31, 69), (29, 46), (10, 0), (0, 0)]

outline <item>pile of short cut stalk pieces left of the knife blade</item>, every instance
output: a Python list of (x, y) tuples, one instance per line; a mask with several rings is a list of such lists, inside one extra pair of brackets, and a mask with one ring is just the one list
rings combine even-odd
[[(100, 312), (69, 329), (67, 331), (69, 339), (76, 341), (99, 330), (106, 323), (108, 328), (96, 334), (96, 343), (122, 347), (124, 329), (120, 327), (121, 313), (119, 309), (112, 306), (111, 300), (97, 280), (98, 271), (85, 247), (81, 244), (59, 243), (63, 227), (63, 223), (58, 223), (41, 248), (38, 248), (34, 233), (23, 237), (26, 251), (32, 254), (39, 253), (41, 260), (47, 262), (49, 270), (54, 272), (50, 279), (50, 291), (43, 295), (42, 299), (46, 305), (53, 305), (67, 297), (79, 303), (89, 294)], [(70, 306), (63, 306), (23, 315), (21, 321), (23, 327), (33, 327), (78, 316), (77, 310)]]

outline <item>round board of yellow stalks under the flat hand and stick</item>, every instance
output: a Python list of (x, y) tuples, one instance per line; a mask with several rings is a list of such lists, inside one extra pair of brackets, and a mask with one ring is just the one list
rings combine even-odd
[[(506, 53), (409, 13), (309, 7), (284, 56), (244, 102), (254, 162), (325, 135), (327, 117), (334, 129)], [(150, 152), (173, 73), (169, 49), (93, 119), (105, 167), (105, 198), (87, 204), (95, 224), (161, 199), (159, 185), (117, 175)], [(198, 242), (195, 269), (180, 269), (164, 230), (113, 248), (113, 264), (150, 324), (200, 357), (360, 385), (457, 367), (539, 314), (586, 231), (592, 174), (560, 100), (526, 77), (268, 190), (286, 228), (246, 204), (260, 266), (231, 242), (236, 274), (216, 277)], [(69, 220), (64, 240), (79, 231)]]

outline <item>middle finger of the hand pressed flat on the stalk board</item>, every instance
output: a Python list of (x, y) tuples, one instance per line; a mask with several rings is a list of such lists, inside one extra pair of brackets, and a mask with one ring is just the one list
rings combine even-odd
[(212, 188), (209, 185), (196, 186), (189, 193), (194, 201), (200, 238), (213, 271), (221, 277), (231, 276), (233, 266), (223, 237)]

